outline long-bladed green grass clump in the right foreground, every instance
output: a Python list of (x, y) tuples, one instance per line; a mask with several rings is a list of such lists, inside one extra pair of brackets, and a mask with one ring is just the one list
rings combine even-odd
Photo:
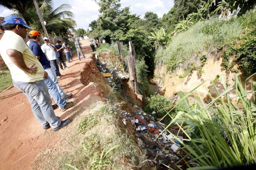
[[(210, 103), (204, 103), (199, 94), (199, 97), (192, 94), (200, 85), (186, 95), (180, 92), (181, 99), (177, 105), (182, 104), (186, 109), (172, 118), (172, 122), (164, 130), (176, 123), (185, 134), (183, 142), (175, 137), (177, 134), (169, 131), (183, 145), (180, 148), (187, 155), (182, 160), (185, 160), (189, 169), (198, 169), (198, 166), (207, 169), (255, 164), (256, 82), (251, 83), (251, 91), (247, 92), (237, 75), (234, 80), (229, 86), (223, 75), (218, 75), (214, 81), (206, 80), (212, 82), (209, 89), (209, 96), (212, 98)], [(215, 85), (217, 81), (222, 83), (224, 92), (218, 91)], [(213, 89), (218, 94), (216, 98), (211, 96), (210, 91)], [(231, 91), (236, 92), (236, 103), (231, 102)], [(251, 99), (247, 95), (252, 95)], [(189, 102), (188, 96), (195, 99), (193, 104)], [(187, 133), (189, 129), (184, 128), (188, 124), (186, 122), (190, 122), (189, 126), (196, 126), (194, 133)]]

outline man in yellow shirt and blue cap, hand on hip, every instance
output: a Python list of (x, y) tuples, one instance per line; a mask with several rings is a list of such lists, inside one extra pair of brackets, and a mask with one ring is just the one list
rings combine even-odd
[(0, 53), (11, 71), (13, 85), (27, 96), (36, 120), (44, 129), (53, 131), (68, 125), (70, 119), (60, 121), (54, 114), (52, 101), (44, 78), (48, 77), (41, 63), (24, 42), (31, 28), (16, 16), (8, 16), (1, 23), (4, 35), (0, 40)]

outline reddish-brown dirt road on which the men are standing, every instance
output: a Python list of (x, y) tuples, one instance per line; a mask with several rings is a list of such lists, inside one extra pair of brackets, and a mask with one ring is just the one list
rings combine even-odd
[[(81, 43), (87, 57), (92, 49), (88, 41)], [(101, 100), (100, 89), (93, 86), (85, 87), (79, 80), (86, 62), (87, 59), (79, 61), (76, 55), (72, 63), (66, 63), (69, 69), (60, 70), (64, 75), (59, 78), (60, 86), (66, 93), (73, 94), (73, 98), (67, 101), (74, 102), (74, 107), (65, 112), (55, 110), (55, 114), (60, 116), (61, 120), (68, 117), (72, 120), (73, 112), (77, 109), (89, 106), (94, 99)], [(49, 130), (52, 131), (51, 128), (46, 131)], [(45, 131), (36, 121), (28, 99), (22, 92), (12, 87), (0, 93), (0, 169), (32, 169), (30, 162), (35, 160), (37, 151), (44, 148), (46, 143), (54, 144), (60, 138), (59, 132), (52, 132), (50, 139), (44, 134)]]

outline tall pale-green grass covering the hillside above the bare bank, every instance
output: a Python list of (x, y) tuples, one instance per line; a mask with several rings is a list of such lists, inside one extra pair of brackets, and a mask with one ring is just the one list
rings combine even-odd
[(217, 16), (201, 21), (187, 31), (176, 35), (166, 48), (160, 48), (155, 54), (155, 63), (164, 63), (168, 70), (181, 66), (185, 70), (191, 64), (199, 65), (200, 56), (211, 52), (213, 48), (225, 45), (255, 28), (254, 11), (238, 18), (219, 20)]

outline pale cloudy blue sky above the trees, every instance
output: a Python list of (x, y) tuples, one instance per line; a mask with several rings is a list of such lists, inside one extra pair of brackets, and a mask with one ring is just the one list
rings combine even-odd
[[(132, 14), (136, 13), (140, 15), (141, 18), (144, 17), (145, 12), (152, 11), (162, 17), (164, 13), (170, 11), (174, 5), (173, 0), (121, 0), (121, 7), (130, 6)], [(76, 28), (87, 29), (91, 21), (98, 18), (99, 6), (94, 0), (53, 0), (54, 7), (58, 7), (61, 4), (71, 5), (71, 10), (76, 20)], [(0, 16), (8, 16), (12, 14), (13, 11), (0, 6)]]

